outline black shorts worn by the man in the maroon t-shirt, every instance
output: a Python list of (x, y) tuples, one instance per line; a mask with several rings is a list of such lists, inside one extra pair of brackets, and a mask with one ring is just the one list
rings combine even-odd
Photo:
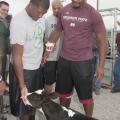
[(92, 99), (93, 64), (92, 60), (58, 60), (56, 91), (67, 95), (75, 87), (81, 101)]

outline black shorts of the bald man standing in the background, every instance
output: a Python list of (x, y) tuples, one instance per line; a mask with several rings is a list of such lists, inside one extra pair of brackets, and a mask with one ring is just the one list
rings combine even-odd
[(45, 84), (52, 85), (56, 82), (57, 61), (47, 61), (44, 64)]

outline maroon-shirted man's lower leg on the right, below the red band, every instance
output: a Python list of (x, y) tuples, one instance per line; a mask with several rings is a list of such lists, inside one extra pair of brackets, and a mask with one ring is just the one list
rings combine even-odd
[(94, 103), (92, 102), (91, 104), (83, 104), (83, 107), (84, 107), (86, 116), (92, 117)]

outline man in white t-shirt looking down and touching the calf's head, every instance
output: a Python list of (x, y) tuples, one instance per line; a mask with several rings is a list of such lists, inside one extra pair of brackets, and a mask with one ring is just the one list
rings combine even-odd
[(34, 120), (34, 110), (26, 106), (28, 92), (40, 89), (45, 20), (49, 0), (30, 0), (10, 24), (12, 57), (10, 65), (10, 107), (20, 120)]

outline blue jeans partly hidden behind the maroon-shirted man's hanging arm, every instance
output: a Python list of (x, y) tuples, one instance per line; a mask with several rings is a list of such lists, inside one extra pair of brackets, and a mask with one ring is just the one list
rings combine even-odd
[(94, 77), (93, 77), (93, 89), (95, 91), (100, 91), (101, 89), (101, 80), (98, 80), (96, 77), (96, 69), (97, 69), (97, 65), (99, 62), (99, 52), (98, 50), (94, 50), (93, 51), (93, 69), (94, 69)]

